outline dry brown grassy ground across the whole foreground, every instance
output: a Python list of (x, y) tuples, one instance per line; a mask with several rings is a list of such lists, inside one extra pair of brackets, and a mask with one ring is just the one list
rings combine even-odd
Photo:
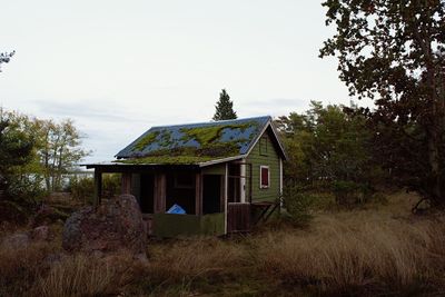
[(445, 296), (445, 217), (413, 216), (416, 199), (317, 214), (305, 229), (150, 241), (147, 264), (67, 255), (59, 222), (50, 242), (0, 249), (0, 296)]

